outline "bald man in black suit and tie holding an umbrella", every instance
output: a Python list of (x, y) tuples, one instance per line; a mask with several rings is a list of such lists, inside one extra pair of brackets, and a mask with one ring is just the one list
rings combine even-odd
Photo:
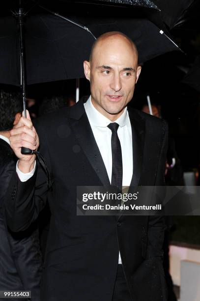
[[(28, 114), (11, 131), (19, 161), (7, 196), (8, 225), (25, 230), (48, 198), (42, 301), (166, 301), (162, 217), (80, 216), (76, 189), (163, 185), (167, 125), (127, 107), (141, 66), (124, 34), (100, 36), (84, 70), (91, 91), (85, 103), (48, 115), (36, 129)], [(46, 158), (50, 190), (35, 155), (22, 155), (22, 146)]]

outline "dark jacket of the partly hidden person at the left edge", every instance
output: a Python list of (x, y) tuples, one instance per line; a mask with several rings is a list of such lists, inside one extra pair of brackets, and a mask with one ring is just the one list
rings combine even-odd
[(32, 290), (31, 300), (39, 301), (42, 260), (38, 229), (33, 223), (26, 231), (13, 233), (5, 221), (4, 198), (15, 170), (15, 154), (0, 139), (0, 290)]

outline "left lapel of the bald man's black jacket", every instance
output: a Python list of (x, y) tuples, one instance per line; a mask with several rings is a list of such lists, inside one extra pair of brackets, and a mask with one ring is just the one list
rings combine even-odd
[[(77, 104), (78, 105), (78, 104)], [(77, 106), (76, 105), (76, 106)], [(81, 101), (79, 107), (81, 106)], [(73, 108), (73, 107), (72, 107)], [(78, 110), (77, 110), (78, 111)], [(82, 102), (82, 112), (79, 110), (79, 114), (74, 114), (75, 111), (71, 110), (68, 122), (74, 132), (81, 148), (83, 149), (88, 161), (93, 167), (95, 173), (99, 177), (103, 186), (110, 186), (109, 177), (106, 171), (104, 161), (102, 159), (99, 148), (96, 144), (89, 120), (86, 115), (86, 111)]]

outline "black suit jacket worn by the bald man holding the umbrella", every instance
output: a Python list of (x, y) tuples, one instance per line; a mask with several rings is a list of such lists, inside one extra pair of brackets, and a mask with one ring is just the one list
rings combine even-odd
[[(128, 112), (133, 137), (131, 185), (164, 185), (167, 124), (131, 108)], [(9, 227), (24, 230), (48, 197), (52, 216), (42, 301), (111, 301), (119, 249), (132, 300), (166, 301), (162, 217), (76, 215), (78, 185), (110, 185), (83, 102), (47, 115), (36, 129), (54, 181), (52, 189), (47, 192), (39, 165), (27, 182), (13, 174), (6, 209)]]

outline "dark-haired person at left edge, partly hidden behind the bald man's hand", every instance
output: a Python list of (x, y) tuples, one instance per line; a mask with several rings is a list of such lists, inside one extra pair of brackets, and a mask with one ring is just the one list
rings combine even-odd
[(0, 91), (0, 290), (31, 290), (31, 300), (39, 301), (42, 262), (36, 223), (26, 231), (11, 232), (3, 203), (17, 162), (9, 145), (10, 130), (20, 120), (22, 111), (23, 101), (18, 93)]

